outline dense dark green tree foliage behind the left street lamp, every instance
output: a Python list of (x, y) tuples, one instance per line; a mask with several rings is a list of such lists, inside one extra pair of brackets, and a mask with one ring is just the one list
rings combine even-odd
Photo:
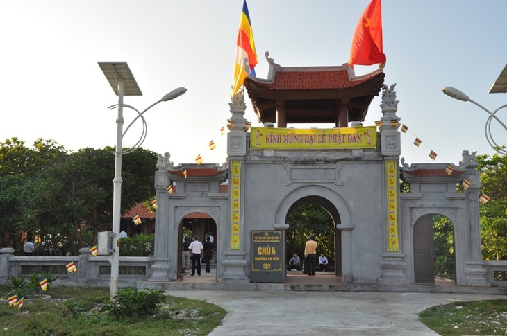
[[(26, 148), (16, 138), (0, 143), (0, 229), (3, 246), (17, 233), (38, 234), (54, 251), (72, 251), (110, 225), (113, 210), (113, 148), (67, 152), (38, 139)], [(156, 153), (142, 148), (124, 155), (121, 211), (153, 197)], [(102, 231), (102, 230), (100, 230)]]

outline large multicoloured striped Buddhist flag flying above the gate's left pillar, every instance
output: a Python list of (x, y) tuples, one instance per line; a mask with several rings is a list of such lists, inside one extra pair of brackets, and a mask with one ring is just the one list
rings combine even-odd
[(236, 41), (236, 56), (234, 62), (233, 96), (240, 91), (244, 78), (250, 74), (256, 76), (253, 68), (257, 65), (256, 46), (253, 43), (250, 15), (247, 0), (243, 1), (243, 12), (240, 19), (240, 30)]

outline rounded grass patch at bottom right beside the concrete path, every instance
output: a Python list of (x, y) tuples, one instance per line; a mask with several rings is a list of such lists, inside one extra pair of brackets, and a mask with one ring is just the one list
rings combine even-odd
[(428, 308), (419, 321), (443, 336), (506, 335), (507, 300), (455, 302)]

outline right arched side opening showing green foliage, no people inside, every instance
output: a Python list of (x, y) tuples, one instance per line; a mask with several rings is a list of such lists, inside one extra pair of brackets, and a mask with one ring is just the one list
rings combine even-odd
[(436, 278), (456, 282), (454, 229), (451, 220), (430, 213), (413, 228), (414, 282), (435, 284)]

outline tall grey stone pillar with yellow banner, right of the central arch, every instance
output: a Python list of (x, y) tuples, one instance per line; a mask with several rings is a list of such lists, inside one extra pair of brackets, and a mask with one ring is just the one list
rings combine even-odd
[[(398, 128), (400, 119), (396, 115), (398, 109), (398, 100), (396, 92), (391, 85), (382, 87), (382, 125), (381, 125), (381, 152), (384, 161), (384, 177), (386, 183), (383, 204), (385, 209), (385, 244), (386, 249), (382, 254), (381, 268), (383, 273), (379, 278), (380, 284), (401, 285), (409, 284), (410, 279), (404, 271), (407, 264), (403, 258), (405, 254), (401, 253), (400, 225), (401, 218), (401, 198), (399, 191), (399, 155), (401, 154), (401, 140)], [(394, 162), (394, 165), (393, 165)], [(389, 168), (386, 168), (389, 166)], [(394, 166), (394, 167), (393, 167)], [(390, 171), (388, 171), (388, 169)], [(392, 171), (391, 171), (392, 170)], [(388, 186), (387, 182), (392, 182)]]

